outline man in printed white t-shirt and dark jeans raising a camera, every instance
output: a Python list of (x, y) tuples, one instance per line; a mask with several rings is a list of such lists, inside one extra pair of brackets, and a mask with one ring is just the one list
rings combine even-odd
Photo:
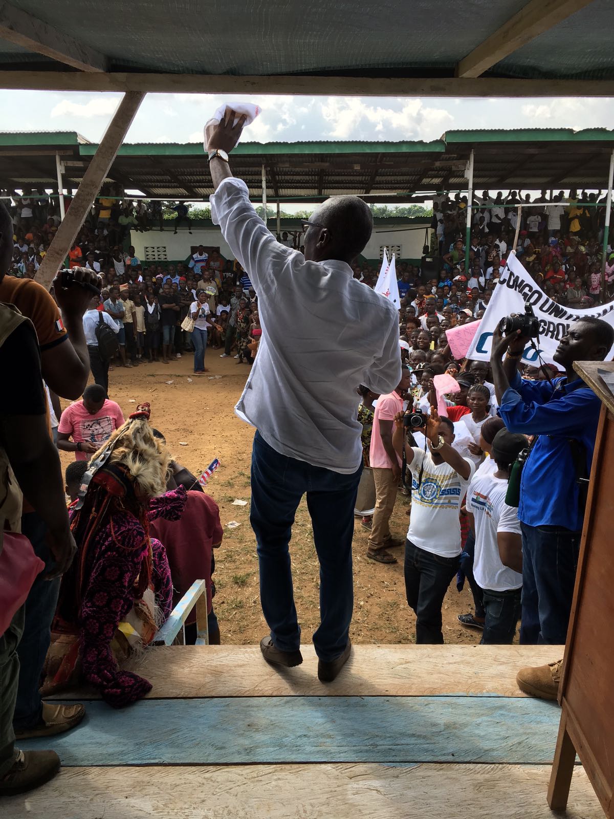
[(427, 427), (428, 450), (409, 446), (403, 415), (396, 419), (393, 445), (405, 448), (412, 473), (412, 509), (405, 543), (405, 594), (416, 615), (416, 642), (444, 642), (441, 607), (445, 592), (460, 565), (461, 532), (458, 514), (475, 472), (472, 461), (454, 449), (454, 423), (440, 418), (434, 406)]

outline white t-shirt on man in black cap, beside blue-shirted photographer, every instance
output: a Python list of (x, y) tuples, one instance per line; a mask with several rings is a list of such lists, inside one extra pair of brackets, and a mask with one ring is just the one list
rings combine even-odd
[(502, 477), (474, 477), (467, 491), (467, 511), (476, 523), (476, 551), (473, 576), (482, 589), (508, 591), (522, 586), (522, 575), (503, 566), (499, 557), (497, 532), (520, 534), (518, 510), (505, 503), (508, 482)]

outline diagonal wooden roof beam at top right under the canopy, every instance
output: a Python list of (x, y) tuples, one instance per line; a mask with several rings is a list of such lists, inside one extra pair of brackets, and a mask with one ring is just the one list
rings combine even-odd
[(530, 0), (456, 66), (456, 76), (472, 79), (484, 74), (518, 48), (544, 34), (561, 20), (588, 6), (593, 0)]

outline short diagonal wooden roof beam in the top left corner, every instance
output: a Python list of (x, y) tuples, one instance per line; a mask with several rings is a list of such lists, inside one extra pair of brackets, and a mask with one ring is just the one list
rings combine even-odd
[(7, 2), (0, 4), (0, 38), (79, 71), (102, 73), (107, 68), (104, 54)]

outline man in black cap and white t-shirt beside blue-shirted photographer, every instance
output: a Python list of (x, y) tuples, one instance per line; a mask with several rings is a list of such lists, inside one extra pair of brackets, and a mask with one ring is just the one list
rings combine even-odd
[(467, 516), (476, 533), (473, 576), (483, 590), (485, 623), (480, 642), (512, 645), (521, 617), (522, 536), (518, 509), (505, 503), (509, 470), (526, 437), (501, 429), (494, 436), (497, 470), (474, 477), (467, 490)]

